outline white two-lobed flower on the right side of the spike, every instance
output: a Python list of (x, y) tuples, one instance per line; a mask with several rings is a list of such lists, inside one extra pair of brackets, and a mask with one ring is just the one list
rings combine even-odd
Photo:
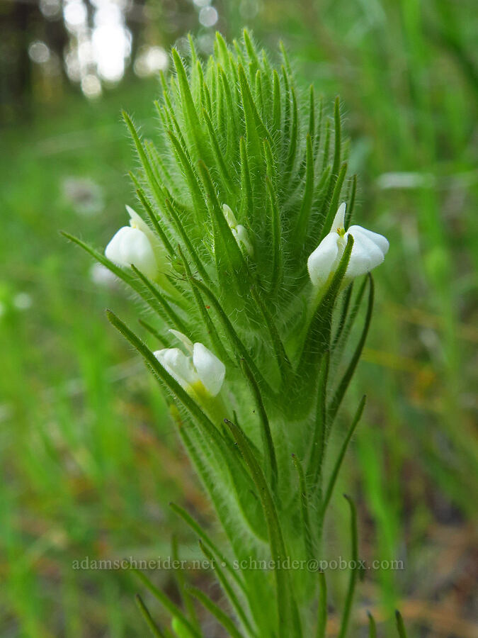
[(343, 202), (338, 207), (329, 235), (324, 237), (307, 260), (307, 269), (314, 286), (325, 284), (336, 271), (346, 248), (348, 235), (353, 237), (353, 247), (346, 279), (370, 272), (383, 262), (388, 252), (389, 243), (383, 235), (372, 233), (362, 226), (351, 226), (346, 231), (345, 211), (346, 203)]

